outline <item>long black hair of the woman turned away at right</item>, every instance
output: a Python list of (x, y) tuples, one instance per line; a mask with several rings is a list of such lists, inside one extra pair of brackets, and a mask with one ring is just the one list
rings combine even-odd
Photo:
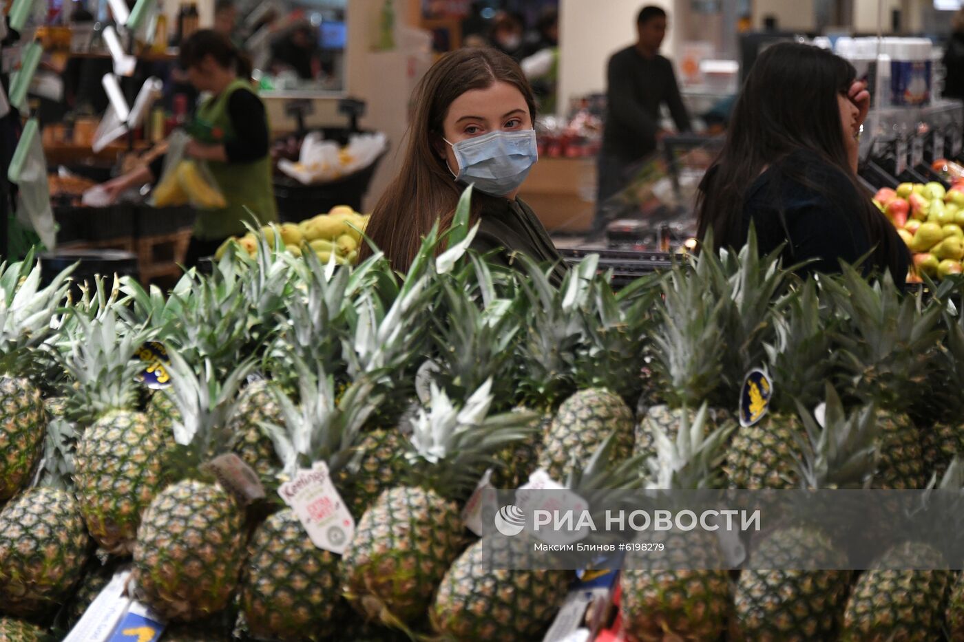
[[(774, 166), (782, 177), (826, 192), (825, 185), (812, 184), (806, 167), (784, 162), (798, 150), (816, 153), (846, 176), (856, 194), (863, 193), (847, 160), (837, 102), (837, 95), (847, 93), (856, 75), (843, 58), (808, 44), (781, 42), (760, 55), (736, 100), (726, 144), (700, 185), (699, 238), (712, 229), (717, 247), (743, 246), (743, 202), (750, 185), (766, 167)], [(783, 206), (781, 202), (776, 204)], [(782, 210), (780, 213), (782, 216)], [(856, 215), (867, 230), (870, 244), (876, 246), (874, 262), (892, 266), (896, 272), (908, 256), (890, 222), (870, 198), (860, 200)]]

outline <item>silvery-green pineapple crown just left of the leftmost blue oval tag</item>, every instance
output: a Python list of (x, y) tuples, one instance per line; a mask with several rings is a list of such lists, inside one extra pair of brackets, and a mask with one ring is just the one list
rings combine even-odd
[(128, 326), (119, 305), (110, 305), (94, 318), (78, 313), (58, 358), (72, 379), (65, 384), (67, 415), (81, 424), (93, 423), (112, 410), (133, 410), (137, 404), (137, 359), (154, 331), (143, 325)]

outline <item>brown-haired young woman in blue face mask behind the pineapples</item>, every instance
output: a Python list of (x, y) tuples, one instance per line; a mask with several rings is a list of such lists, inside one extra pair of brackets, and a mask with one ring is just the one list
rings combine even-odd
[[(452, 223), (466, 186), (471, 220), (479, 222), (472, 248), (498, 250), (565, 264), (545, 227), (517, 198), (536, 162), (535, 101), (522, 70), (494, 49), (459, 49), (442, 56), (415, 90), (415, 116), (402, 169), (375, 206), (365, 233), (396, 270), (406, 271), (436, 221)], [(362, 257), (370, 254), (362, 246)]]

